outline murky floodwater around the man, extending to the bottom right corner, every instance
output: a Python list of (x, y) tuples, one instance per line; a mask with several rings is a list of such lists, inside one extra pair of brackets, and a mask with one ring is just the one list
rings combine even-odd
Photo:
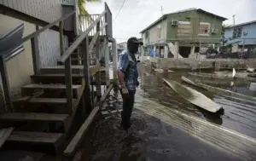
[(140, 86), (126, 133), (120, 126), (122, 100), (112, 93), (83, 142), (80, 160), (256, 160), (256, 106), (198, 89), (224, 107), (212, 115), (177, 95), (162, 78), (180, 82), (188, 74), (156, 74), (140, 66)]

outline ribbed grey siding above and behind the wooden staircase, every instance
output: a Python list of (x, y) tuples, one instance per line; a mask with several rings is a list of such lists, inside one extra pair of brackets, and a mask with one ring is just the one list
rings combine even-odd
[[(61, 0), (0, 0), (0, 4), (4, 6), (49, 23), (72, 11), (72, 6), (63, 9), (61, 2)], [(66, 30), (73, 30), (72, 19), (66, 20), (64, 25)], [(38, 40), (40, 67), (55, 66), (57, 59), (61, 56), (59, 32), (47, 30), (39, 35)], [(67, 46), (67, 37), (65, 37), (65, 43)]]

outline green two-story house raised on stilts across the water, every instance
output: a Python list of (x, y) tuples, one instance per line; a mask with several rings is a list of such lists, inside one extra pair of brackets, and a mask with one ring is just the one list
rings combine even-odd
[(227, 19), (203, 9), (164, 14), (141, 32), (143, 43), (153, 46), (160, 57), (168, 57), (170, 52), (174, 57), (189, 57), (203, 47), (218, 46), (224, 20)]

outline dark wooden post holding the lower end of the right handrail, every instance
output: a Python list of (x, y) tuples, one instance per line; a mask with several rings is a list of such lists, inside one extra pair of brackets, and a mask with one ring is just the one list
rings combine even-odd
[(66, 83), (66, 96), (67, 108), (70, 115), (73, 114), (73, 89), (72, 89), (72, 69), (71, 58), (68, 57), (65, 61), (65, 83)]

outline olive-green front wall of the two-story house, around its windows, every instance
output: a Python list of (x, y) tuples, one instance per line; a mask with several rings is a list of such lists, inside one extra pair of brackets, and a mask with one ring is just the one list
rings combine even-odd
[[(171, 21), (190, 21), (190, 34), (187, 35), (178, 35), (177, 26), (172, 26)], [(208, 22), (211, 24), (209, 36), (199, 36), (198, 28), (200, 22)], [(221, 29), (222, 29), (223, 20), (219, 20), (217, 17), (210, 14), (203, 14), (197, 11), (188, 11), (180, 14), (171, 14), (168, 16), (167, 23), (167, 39), (176, 40), (176, 39), (211, 39), (211, 40), (201, 40), (202, 43), (219, 43), (219, 39), (221, 37)], [(212, 28), (218, 29), (217, 33), (212, 34)], [(216, 40), (213, 40), (216, 39)], [(196, 40), (195, 42), (199, 42)]]

